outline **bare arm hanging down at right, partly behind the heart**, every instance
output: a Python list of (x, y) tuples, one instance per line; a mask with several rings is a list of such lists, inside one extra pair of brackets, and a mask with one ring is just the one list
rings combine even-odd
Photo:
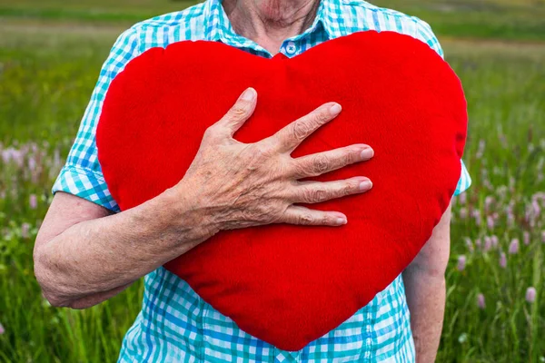
[(402, 273), (411, 312), (416, 361), (435, 361), (445, 310), (445, 270), (451, 247), (451, 206), (422, 250)]

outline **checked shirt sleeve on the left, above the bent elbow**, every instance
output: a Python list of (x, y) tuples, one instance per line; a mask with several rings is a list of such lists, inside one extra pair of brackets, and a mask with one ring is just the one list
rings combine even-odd
[(108, 191), (97, 159), (96, 125), (110, 83), (125, 65), (139, 54), (139, 34), (134, 28), (128, 29), (117, 38), (103, 64), (74, 144), (64, 167), (54, 182), (53, 193), (65, 191), (87, 201), (93, 201), (111, 211), (119, 211), (119, 206)]

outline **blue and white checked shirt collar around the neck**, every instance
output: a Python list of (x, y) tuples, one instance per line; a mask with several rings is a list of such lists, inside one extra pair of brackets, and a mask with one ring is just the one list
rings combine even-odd
[[(209, 41), (222, 41), (226, 44), (234, 44), (240, 47), (261, 48), (253, 41), (236, 34), (229, 18), (223, 9), (222, 0), (207, 0), (204, 6), (205, 39)], [(329, 39), (345, 35), (342, 21), (342, 0), (321, 0), (314, 21), (304, 33), (292, 37), (301, 38), (307, 34), (325, 31)], [(266, 52), (266, 51), (265, 51)]]

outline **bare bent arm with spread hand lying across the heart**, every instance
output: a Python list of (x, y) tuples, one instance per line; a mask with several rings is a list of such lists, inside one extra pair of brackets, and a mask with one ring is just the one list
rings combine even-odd
[(255, 91), (243, 93), (204, 132), (183, 180), (138, 207), (110, 214), (91, 201), (55, 194), (35, 242), (35, 276), (45, 298), (55, 306), (93, 306), (221, 230), (277, 222), (345, 224), (340, 212), (292, 204), (367, 191), (367, 178), (297, 179), (367, 160), (371, 148), (356, 144), (291, 158), (299, 143), (341, 112), (334, 103), (325, 103), (260, 142), (237, 142), (233, 133), (255, 104)]

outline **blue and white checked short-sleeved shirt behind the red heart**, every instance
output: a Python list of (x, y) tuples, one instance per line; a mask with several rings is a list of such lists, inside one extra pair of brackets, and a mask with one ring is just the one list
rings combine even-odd
[[(357, 31), (395, 31), (442, 50), (428, 24), (362, 0), (322, 0), (304, 33), (282, 43), (288, 57), (314, 45)], [(117, 39), (94, 89), (68, 160), (53, 192), (65, 191), (119, 211), (104, 182), (94, 134), (108, 86), (125, 64), (152, 47), (183, 40), (220, 41), (252, 54), (272, 54), (236, 34), (221, 0), (207, 0), (182, 12), (136, 24)], [(466, 190), (470, 176), (463, 166), (455, 194)], [(414, 343), (401, 275), (367, 306), (322, 338), (299, 351), (273, 347), (246, 334), (203, 301), (187, 283), (163, 268), (144, 278), (143, 309), (127, 332), (120, 362), (412, 362)], [(319, 316), (316, 319), (320, 319)]]

